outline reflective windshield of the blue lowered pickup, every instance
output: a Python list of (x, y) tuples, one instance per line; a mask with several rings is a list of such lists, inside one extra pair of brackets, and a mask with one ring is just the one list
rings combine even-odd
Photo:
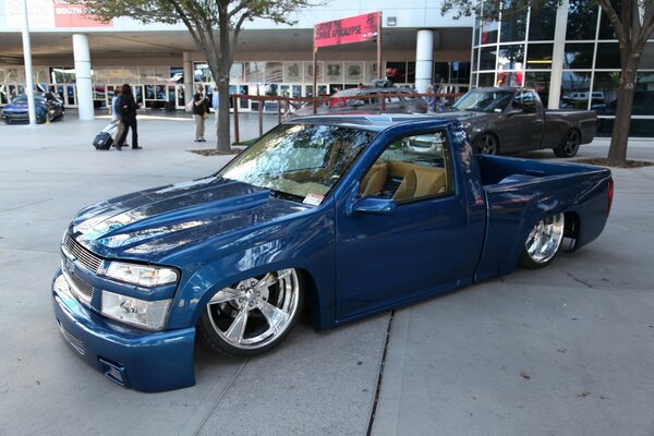
[(218, 174), (319, 204), (374, 137), (336, 125), (280, 124)]

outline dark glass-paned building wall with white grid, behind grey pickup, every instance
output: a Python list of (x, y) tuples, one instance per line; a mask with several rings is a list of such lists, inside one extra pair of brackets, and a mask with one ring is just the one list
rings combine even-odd
[[(550, 109), (593, 109), (601, 130), (615, 119), (620, 52), (606, 14), (589, 0), (553, 0), (543, 8), (476, 20), (471, 86), (534, 87)], [(654, 135), (654, 39), (637, 75), (631, 132)]]

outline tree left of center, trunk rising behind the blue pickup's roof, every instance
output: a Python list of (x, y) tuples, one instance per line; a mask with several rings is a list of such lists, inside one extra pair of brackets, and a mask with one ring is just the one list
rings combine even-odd
[[(229, 108), (229, 72), (239, 35), (246, 21), (272, 20), (293, 24), (290, 12), (313, 5), (308, 0), (69, 0), (84, 4), (88, 13), (102, 21), (129, 16), (142, 23), (184, 23), (195, 45), (205, 55), (216, 86), (220, 107)], [(229, 110), (218, 116), (220, 154), (231, 153)]]

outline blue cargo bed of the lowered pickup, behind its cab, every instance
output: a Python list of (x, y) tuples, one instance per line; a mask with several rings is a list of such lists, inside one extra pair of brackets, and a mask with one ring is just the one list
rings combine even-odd
[(476, 159), (487, 225), (475, 280), (510, 272), (529, 231), (548, 216), (565, 215), (565, 235), (574, 241), (573, 250), (602, 233), (609, 209), (608, 169), (485, 155)]

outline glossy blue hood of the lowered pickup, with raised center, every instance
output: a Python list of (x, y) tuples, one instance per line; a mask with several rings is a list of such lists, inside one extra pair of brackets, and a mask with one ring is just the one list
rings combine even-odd
[(225, 238), (306, 210), (270, 191), (209, 177), (136, 192), (81, 210), (73, 237), (108, 258), (155, 262), (172, 250)]

